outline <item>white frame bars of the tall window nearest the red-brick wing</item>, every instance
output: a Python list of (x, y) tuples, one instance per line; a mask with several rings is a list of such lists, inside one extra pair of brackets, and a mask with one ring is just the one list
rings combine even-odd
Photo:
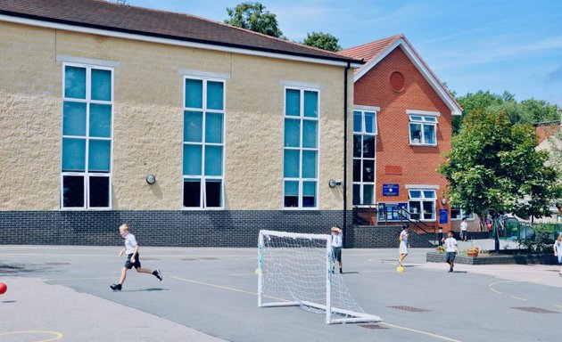
[[(298, 90), (300, 92), (300, 109), (299, 109), (299, 116), (288, 116), (286, 115), (286, 94), (287, 94), (287, 90)], [(318, 116), (316, 118), (310, 118), (310, 117), (305, 117), (304, 116), (304, 92), (315, 92), (318, 94)], [(283, 208), (283, 210), (318, 210), (318, 208), (320, 208), (320, 194), (319, 194), (319, 182), (318, 182), (318, 177), (319, 177), (319, 170), (320, 170), (320, 113), (321, 113), (321, 108), (320, 108), (320, 103), (321, 103), (321, 92), (320, 92), (320, 88), (316, 88), (316, 87), (310, 87), (307, 85), (285, 85), (284, 89), (283, 89), (283, 151), (284, 151), (284, 156), (285, 156), (285, 150), (296, 150), (299, 151), (299, 176), (298, 177), (285, 177), (285, 175), (283, 175), (283, 189), (282, 189), (282, 193), (283, 193), (283, 202), (281, 203), (281, 206)], [(300, 125), (300, 147), (285, 147), (285, 119), (286, 118), (291, 118), (291, 119), (299, 119), (301, 121), (301, 125)], [(316, 136), (316, 148), (304, 148), (302, 147), (302, 140), (303, 140), (303, 122), (305, 120), (310, 120), (310, 121), (316, 121), (317, 122), (317, 136)], [(302, 151), (316, 151), (316, 156), (317, 156), (317, 160), (316, 160), (316, 178), (304, 178), (302, 177)], [(282, 169), (285, 167), (285, 157), (283, 159), (283, 164), (282, 164)], [(299, 199), (298, 199), (298, 206), (297, 207), (285, 207), (285, 181), (289, 181), (289, 182), (298, 182), (299, 183)], [(316, 183), (316, 187), (315, 187), (315, 202), (316, 202), (316, 206), (314, 207), (303, 207), (302, 206), (302, 198), (303, 198), (303, 183), (304, 182), (315, 182)]]

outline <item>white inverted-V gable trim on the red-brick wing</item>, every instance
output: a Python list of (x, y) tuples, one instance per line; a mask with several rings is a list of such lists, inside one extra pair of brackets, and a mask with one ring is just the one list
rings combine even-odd
[(361, 77), (367, 74), (370, 69), (373, 69), (373, 67), (375, 67), (379, 61), (382, 61), (384, 57), (386, 57), (389, 53), (392, 53), (393, 50), (398, 46), (400, 46), (402, 51), (406, 53), (409, 60), (412, 61), (412, 63), (414, 63), (414, 65), (422, 74), (422, 76), (426, 78), (427, 83), (431, 85), (435, 93), (437, 93), (439, 97), (442, 99), (442, 101), (445, 102), (445, 104), (447, 104), (447, 107), (449, 107), (450, 109), (450, 114), (461, 115), (462, 110), (460, 110), (459, 105), (457, 105), (457, 103), (455, 103), (450, 98), (450, 95), (447, 94), (447, 92), (442, 88), (442, 85), (440, 84), (439, 80), (432, 75), (429, 69), (426, 68), (426, 65), (417, 57), (417, 54), (412, 50), (412, 48), (409, 46), (408, 43), (406, 43), (406, 41), (403, 38), (397, 39), (392, 45), (388, 46), (386, 50), (384, 50), (382, 53), (379, 53), (379, 55), (376, 56), (374, 60), (369, 61), (367, 64), (365, 64), (363, 68), (361, 68), (355, 74), (353, 82), (357, 82)]

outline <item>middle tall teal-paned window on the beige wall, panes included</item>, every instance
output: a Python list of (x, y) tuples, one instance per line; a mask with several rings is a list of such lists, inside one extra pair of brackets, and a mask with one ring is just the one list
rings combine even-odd
[(184, 82), (183, 207), (224, 208), (225, 81)]

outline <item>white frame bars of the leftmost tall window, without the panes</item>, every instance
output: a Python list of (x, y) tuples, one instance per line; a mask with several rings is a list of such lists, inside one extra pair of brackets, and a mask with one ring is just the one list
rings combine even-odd
[[(92, 60), (94, 61), (94, 60)], [(67, 98), (64, 94), (64, 90), (66, 88), (66, 67), (76, 67), (76, 68), (84, 68), (86, 69), (86, 99), (76, 99), (76, 98)], [(110, 101), (101, 101), (101, 100), (92, 100), (91, 99), (91, 76), (92, 76), (92, 69), (102, 69), (108, 70), (112, 73), (112, 92), (111, 92), (111, 100)], [(75, 210), (91, 210), (91, 211), (105, 211), (112, 209), (112, 172), (113, 172), (113, 112), (115, 109), (115, 98), (114, 98), (114, 91), (115, 91), (115, 69), (112, 67), (108, 67), (105, 65), (96, 65), (96, 64), (87, 64), (87, 63), (80, 63), (80, 62), (62, 62), (62, 109), (61, 109), (61, 179), (60, 179), (60, 209), (62, 211), (75, 211)], [(86, 135), (78, 136), (78, 135), (64, 135), (63, 134), (63, 117), (64, 117), (64, 102), (80, 102), (86, 103)], [(112, 129), (109, 138), (104, 137), (95, 137), (90, 138), (89, 131), (90, 131), (90, 104), (105, 104), (112, 106)], [(64, 138), (79, 138), (86, 140), (86, 152), (85, 152), (85, 171), (84, 172), (77, 172), (77, 171), (62, 171), (62, 141)], [(110, 165), (109, 165), (109, 172), (108, 173), (101, 173), (101, 172), (89, 172), (89, 142), (91, 140), (108, 140), (111, 142), (110, 148)], [(64, 207), (64, 176), (82, 176), (84, 177), (84, 206), (83, 207)], [(107, 177), (108, 180), (108, 207), (90, 207), (90, 177)]]

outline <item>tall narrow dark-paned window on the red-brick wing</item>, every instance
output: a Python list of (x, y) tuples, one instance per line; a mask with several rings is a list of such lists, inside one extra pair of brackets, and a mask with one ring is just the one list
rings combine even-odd
[(376, 111), (353, 110), (353, 205), (375, 203)]

